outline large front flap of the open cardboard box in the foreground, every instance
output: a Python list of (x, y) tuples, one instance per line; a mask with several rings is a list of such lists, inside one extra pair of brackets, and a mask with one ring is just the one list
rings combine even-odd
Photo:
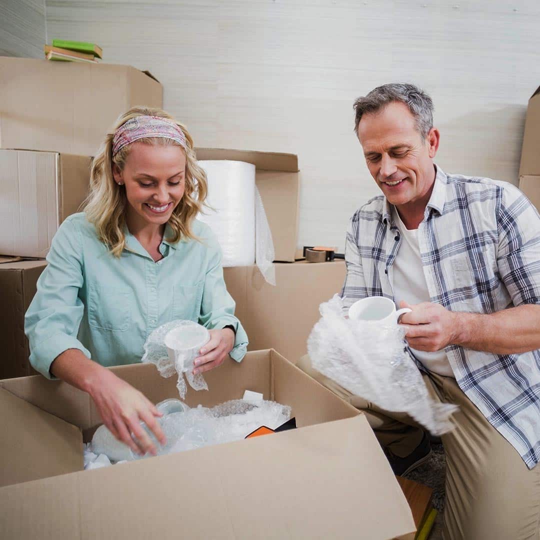
[[(3, 536), (387, 540), (415, 530), (363, 415), (61, 480), (0, 489)], [(66, 509), (54, 530), (35, 506), (46, 500)]]

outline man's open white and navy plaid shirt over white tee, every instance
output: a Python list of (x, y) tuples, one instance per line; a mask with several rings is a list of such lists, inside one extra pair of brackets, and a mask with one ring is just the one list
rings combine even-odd
[[(515, 186), (437, 167), (418, 239), (431, 302), (471, 313), (540, 304), (540, 216)], [(400, 244), (383, 195), (356, 211), (346, 238), (345, 307), (365, 296), (393, 299)], [(540, 349), (445, 350), (460, 388), (532, 469), (540, 460)]]

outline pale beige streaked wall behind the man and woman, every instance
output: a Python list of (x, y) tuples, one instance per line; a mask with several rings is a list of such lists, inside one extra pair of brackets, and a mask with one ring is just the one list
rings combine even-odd
[(294, 152), (299, 245), (344, 245), (377, 194), (352, 132), (354, 99), (390, 81), (435, 101), (448, 172), (517, 181), (540, 84), (540, 2), (46, 0), (49, 39), (93, 40), (149, 69), (199, 146)]

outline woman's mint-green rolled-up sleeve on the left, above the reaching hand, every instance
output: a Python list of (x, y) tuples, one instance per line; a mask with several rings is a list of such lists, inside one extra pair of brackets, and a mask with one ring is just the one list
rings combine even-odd
[(30, 342), (30, 363), (48, 379), (51, 363), (68, 349), (90, 352), (77, 339), (84, 305), (83, 253), (79, 233), (68, 218), (58, 229), (46, 257), (48, 265), (37, 282), (37, 292), (24, 318)]

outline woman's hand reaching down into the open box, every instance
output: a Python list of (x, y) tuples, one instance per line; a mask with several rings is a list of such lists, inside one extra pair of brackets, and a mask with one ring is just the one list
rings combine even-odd
[(87, 382), (87, 392), (96, 403), (105, 426), (135, 454), (157, 453), (155, 444), (140, 425), (141, 420), (160, 444), (165, 444), (165, 435), (156, 420), (161, 413), (156, 406), (114, 373), (103, 368), (92, 374)]

